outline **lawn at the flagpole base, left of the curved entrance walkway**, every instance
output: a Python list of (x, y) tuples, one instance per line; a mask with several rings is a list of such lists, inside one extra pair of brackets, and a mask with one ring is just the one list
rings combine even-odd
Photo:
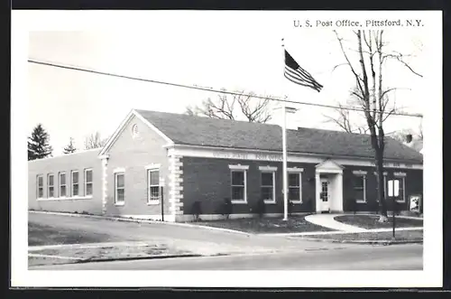
[(221, 229), (234, 229), (255, 234), (334, 230), (310, 223), (304, 219), (304, 216), (290, 216), (288, 221), (284, 221), (282, 218), (253, 218), (237, 220), (210, 220), (193, 223)]

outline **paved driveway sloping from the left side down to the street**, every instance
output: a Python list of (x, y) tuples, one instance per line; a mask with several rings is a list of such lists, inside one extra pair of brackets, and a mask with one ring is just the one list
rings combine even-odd
[[(158, 241), (174, 248), (208, 255), (217, 253), (249, 253), (302, 248), (336, 248), (336, 244), (284, 237), (243, 235), (231, 232), (176, 226), (164, 223), (98, 220), (42, 213), (29, 213), (29, 222), (60, 229), (77, 229), (84, 234), (108, 235), (107, 241)], [(354, 248), (361, 245), (344, 245)]]

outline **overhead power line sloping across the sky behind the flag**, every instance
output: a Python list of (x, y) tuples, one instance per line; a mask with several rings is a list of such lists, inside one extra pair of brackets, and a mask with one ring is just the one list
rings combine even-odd
[[(198, 90), (204, 90), (204, 91), (210, 91), (210, 92), (222, 93), (222, 94), (229, 94), (229, 95), (236, 95), (236, 96), (249, 96), (249, 97), (252, 97), (252, 98), (262, 98), (262, 99), (267, 99), (268, 98), (268, 99), (271, 99), (271, 100), (274, 100), (274, 101), (278, 101), (278, 102), (285, 102), (285, 103), (290, 103), (290, 104), (298, 104), (298, 105), (306, 105), (306, 106), (314, 106), (314, 107), (327, 107), (327, 108), (345, 109), (345, 110), (361, 111), (361, 112), (365, 111), (365, 109), (359, 108), (359, 107), (338, 107), (338, 106), (326, 105), (326, 104), (299, 102), (299, 101), (294, 101), (294, 100), (290, 100), (290, 99), (287, 99), (287, 98), (274, 98), (274, 97), (271, 97), (271, 96), (259, 96), (259, 95), (253, 95), (253, 94), (244, 94), (244, 93), (237, 92), (237, 91), (227, 91), (227, 90), (221, 90), (221, 89), (213, 89), (213, 88), (201, 87), (201, 86), (198, 86), (198, 85), (185, 85), (185, 84), (165, 82), (165, 81), (160, 81), (160, 80), (155, 80), (155, 79), (144, 79), (144, 78), (138, 78), (138, 77), (118, 75), (118, 74), (115, 74), (115, 73), (99, 71), (99, 70), (88, 70), (88, 69), (85, 69), (85, 68), (67, 66), (67, 65), (62, 65), (62, 64), (59, 64), (59, 63), (36, 61), (36, 60), (30, 60), (30, 59), (28, 60), (28, 62), (35, 63), (35, 64), (41, 64), (41, 65), (54, 67), (54, 68), (60, 68), (60, 69), (66, 69), (66, 70), (78, 70), (78, 71), (89, 72), (89, 73), (93, 73), (93, 74), (97, 74), (97, 75), (104, 75), (104, 76), (110, 76), (110, 77), (116, 77), (116, 78), (122, 78), (122, 79), (133, 79), (133, 80), (137, 80), (137, 81), (143, 81), (143, 82), (155, 83), (155, 84), (162, 84), (162, 85), (169, 85), (169, 86), (174, 86), (174, 87), (184, 88), (184, 89), (198, 89)], [(373, 110), (371, 110), (370, 112), (373, 112)], [(421, 114), (410, 114), (410, 113), (401, 113), (401, 112), (382, 112), (382, 114), (390, 114), (390, 115), (393, 115), (393, 116), (403, 116), (403, 117), (423, 117)]]

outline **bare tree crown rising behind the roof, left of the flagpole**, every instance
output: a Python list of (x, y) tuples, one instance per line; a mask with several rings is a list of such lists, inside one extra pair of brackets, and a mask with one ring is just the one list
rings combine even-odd
[(221, 93), (216, 100), (207, 98), (200, 107), (187, 107), (186, 114), (232, 120), (244, 118), (257, 123), (266, 123), (272, 119), (270, 98), (254, 98), (255, 93), (247, 93), (244, 90), (235, 93)]

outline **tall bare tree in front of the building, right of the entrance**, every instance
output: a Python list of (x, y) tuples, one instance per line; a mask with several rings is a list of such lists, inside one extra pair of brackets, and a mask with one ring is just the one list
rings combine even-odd
[[(336, 31), (334, 31), (336, 33)], [(383, 153), (385, 148), (383, 122), (396, 111), (396, 106), (389, 98), (394, 90), (384, 85), (382, 71), (385, 63), (391, 59), (406, 66), (413, 74), (421, 76), (405, 61), (405, 55), (397, 51), (386, 51), (383, 30), (354, 31), (356, 38), (356, 54), (344, 45), (344, 39), (336, 33), (336, 39), (345, 58), (345, 65), (349, 67), (355, 79), (352, 91), (364, 110), (364, 118), (371, 134), (371, 145), (374, 152), (374, 162), (377, 173), (377, 198), (380, 205), (381, 217), (379, 221), (386, 222), (387, 205), (383, 188)], [(353, 51), (353, 53), (350, 53)], [(389, 102), (393, 105), (389, 107)]]

